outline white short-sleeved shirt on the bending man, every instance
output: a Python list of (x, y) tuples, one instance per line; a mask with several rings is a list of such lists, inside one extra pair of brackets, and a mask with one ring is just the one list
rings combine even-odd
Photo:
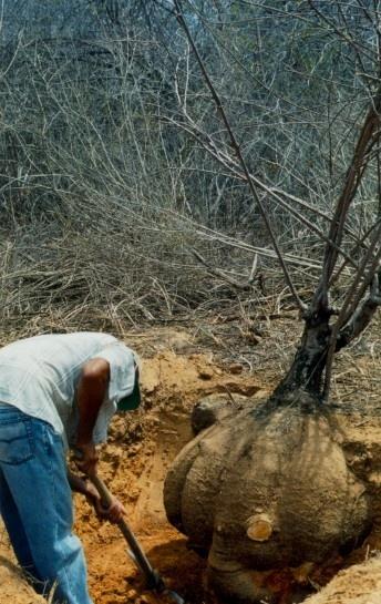
[(93, 441), (103, 442), (117, 402), (132, 392), (135, 380), (134, 352), (109, 334), (53, 334), (4, 346), (0, 349), (0, 401), (49, 422), (65, 447), (71, 446), (79, 421), (78, 382), (83, 365), (93, 358), (110, 364), (109, 391), (93, 432)]

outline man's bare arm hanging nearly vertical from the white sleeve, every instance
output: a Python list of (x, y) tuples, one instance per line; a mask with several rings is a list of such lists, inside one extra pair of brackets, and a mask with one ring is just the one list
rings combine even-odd
[(110, 381), (110, 365), (105, 359), (92, 359), (82, 369), (76, 391), (80, 420), (76, 431), (76, 462), (85, 474), (95, 473), (97, 457), (93, 443), (93, 430)]

